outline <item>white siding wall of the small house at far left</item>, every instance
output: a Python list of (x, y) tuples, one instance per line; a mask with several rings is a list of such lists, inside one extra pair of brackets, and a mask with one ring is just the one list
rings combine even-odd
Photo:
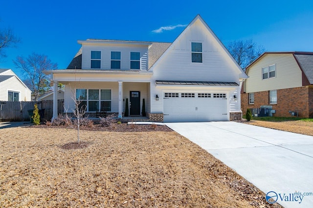
[(20, 82), (20, 80), (16, 76), (12, 76), (11, 78), (4, 80), (0, 83), (0, 101), (8, 100), (8, 91), (20, 93), (19, 101), (31, 100), (30, 90), (25, 88), (25, 86)]

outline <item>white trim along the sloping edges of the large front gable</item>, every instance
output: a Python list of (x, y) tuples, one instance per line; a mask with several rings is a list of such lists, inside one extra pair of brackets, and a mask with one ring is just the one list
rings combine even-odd
[[(188, 26), (181, 32), (181, 34), (178, 36), (178, 38), (175, 39), (175, 41), (168, 47), (168, 49), (163, 53), (161, 57), (158, 58), (158, 60), (154, 63), (154, 65), (151, 67), (153, 68), (162, 60), (164, 57), (167, 56), (167, 54), (173, 49), (173, 47), (179, 42), (180, 39), (184, 37), (184, 35), (190, 30), (190, 28), (196, 23), (201, 22), (201, 24), (206, 28), (207, 32), (211, 35), (211, 40), (213, 41), (213, 44), (219, 46), (222, 50), (219, 50), (221, 53), (224, 53), (224, 57), (226, 57), (225, 61), (230, 63), (232, 65), (232, 69), (236, 70), (238, 74), (240, 74), (239, 78), (246, 79), (248, 76), (244, 72), (244, 70), (239, 66), (239, 64), (236, 62), (236, 60), (230, 55), (228, 50), (225, 48), (224, 44), (221, 42), (221, 40), (214, 34), (214, 32), (211, 30), (211, 28), (206, 24), (206, 22), (201, 18), (200, 15), (197, 15), (189, 24)], [(217, 49), (218, 50), (218, 49)]]

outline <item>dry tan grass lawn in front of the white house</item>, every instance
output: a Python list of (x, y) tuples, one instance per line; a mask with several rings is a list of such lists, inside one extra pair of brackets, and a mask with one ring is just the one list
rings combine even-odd
[[(279, 207), (176, 132), (0, 129), (0, 207)], [(85, 142), (85, 143), (84, 143)]]

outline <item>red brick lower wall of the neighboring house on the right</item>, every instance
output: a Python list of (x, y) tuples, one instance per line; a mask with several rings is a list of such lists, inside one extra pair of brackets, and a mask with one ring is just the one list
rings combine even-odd
[(255, 92), (254, 104), (248, 104), (248, 96), (248, 93), (241, 94), (243, 114), (246, 114), (247, 108), (260, 108), (261, 105), (270, 105), (273, 110), (276, 110), (273, 116), (291, 117), (289, 111), (298, 112), (298, 117), (313, 116), (313, 88), (304, 86), (277, 90), (277, 104), (269, 104), (269, 91)]

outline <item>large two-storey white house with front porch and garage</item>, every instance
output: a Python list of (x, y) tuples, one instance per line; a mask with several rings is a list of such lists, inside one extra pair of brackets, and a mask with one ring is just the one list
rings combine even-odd
[[(66, 70), (45, 71), (54, 89), (65, 84), (65, 108), (73, 93), (87, 113), (102, 109), (140, 116), (145, 99), (151, 121), (241, 119), (240, 91), (248, 77), (197, 15), (173, 43), (87, 39)], [(56, 95), (56, 93), (54, 94)], [(53, 116), (57, 116), (54, 97)]]

